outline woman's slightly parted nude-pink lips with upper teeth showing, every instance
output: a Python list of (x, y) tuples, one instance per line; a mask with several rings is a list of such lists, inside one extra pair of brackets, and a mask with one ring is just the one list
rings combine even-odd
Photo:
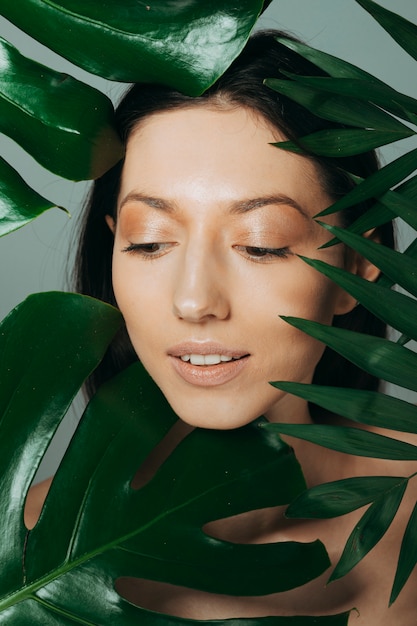
[(181, 344), (169, 350), (175, 372), (187, 383), (203, 387), (225, 384), (240, 374), (249, 354), (218, 344)]

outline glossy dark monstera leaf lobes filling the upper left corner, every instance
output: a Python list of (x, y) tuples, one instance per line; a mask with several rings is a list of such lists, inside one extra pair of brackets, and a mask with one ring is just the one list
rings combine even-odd
[[(197, 95), (239, 54), (263, 4), (4, 0), (0, 14), (89, 72), (123, 82), (165, 83)], [(1, 39), (0, 60), (0, 130), (43, 167), (83, 180), (97, 178), (122, 158), (113, 106), (103, 93), (23, 57)], [(53, 206), (28, 188), (19, 211), (17, 173), (7, 172), (2, 186), (7, 189), (0, 234)]]

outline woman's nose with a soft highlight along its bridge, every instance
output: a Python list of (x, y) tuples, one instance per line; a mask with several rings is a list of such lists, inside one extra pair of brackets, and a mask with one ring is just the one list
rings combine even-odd
[(230, 294), (225, 267), (204, 250), (189, 251), (178, 270), (173, 312), (188, 322), (225, 320), (230, 315)]

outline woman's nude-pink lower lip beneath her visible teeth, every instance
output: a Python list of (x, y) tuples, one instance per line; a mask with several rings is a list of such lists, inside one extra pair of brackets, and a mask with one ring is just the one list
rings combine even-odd
[(192, 365), (189, 361), (171, 357), (173, 367), (181, 378), (199, 387), (215, 387), (228, 383), (241, 373), (248, 359), (248, 356), (244, 356), (236, 361), (225, 361), (218, 365)]

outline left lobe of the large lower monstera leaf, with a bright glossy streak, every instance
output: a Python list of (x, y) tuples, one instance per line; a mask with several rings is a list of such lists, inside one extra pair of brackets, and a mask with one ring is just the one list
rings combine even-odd
[(91, 298), (47, 293), (30, 296), (0, 325), (1, 595), (22, 582), (26, 492), (121, 321), (118, 311)]

